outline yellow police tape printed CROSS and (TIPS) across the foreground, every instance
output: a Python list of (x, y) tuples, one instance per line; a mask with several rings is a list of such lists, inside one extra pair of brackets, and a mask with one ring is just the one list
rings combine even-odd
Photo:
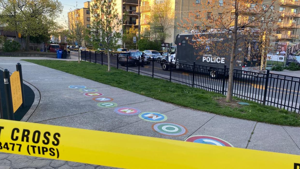
[(3, 119), (0, 152), (120, 168), (300, 167), (298, 155)]

